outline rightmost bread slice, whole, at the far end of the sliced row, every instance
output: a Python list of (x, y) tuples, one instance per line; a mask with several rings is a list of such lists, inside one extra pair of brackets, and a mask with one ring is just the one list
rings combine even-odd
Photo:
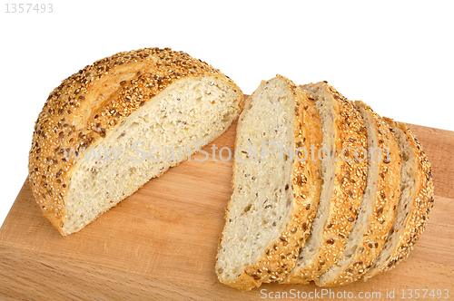
[(382, 271), (395, 267), (410, 250), (426, 228), (433, 207), (433, 181), (430, 164), (415, 135), (405, 123), (384, 118), (397, 138), (402, 153), (400, 171), (400, 201), (396, 218), (385, 246), (364, 276), (369, 279)]

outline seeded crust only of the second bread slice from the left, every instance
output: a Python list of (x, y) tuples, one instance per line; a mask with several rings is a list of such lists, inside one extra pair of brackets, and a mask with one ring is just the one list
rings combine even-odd
[[(316, 256), (311, 257), (311, 264), (301, 265), (303, 258), (300, 253), (296, 266), (281, 283), (308, 284), (310, 281), (319, 279), (342, 256), (345, 241), (358, 216), (367, 177), (367, 160), (355, 160), (353, 154), (354, 150), (360, 148), (367, 150), (367, 133), (360, 113), (349, 100), (328, 83), (311, 83), (302, 88), (307, 91), (314, 86), (329, 92), (335, 110), (334, 143), (337, 151), (334, 155), (335, 160), (331, 160), (332, 164), (335, 164), (336, 171), (330, 215), (323, 229), (323, 242)], [(345, 160), (343, 160), (341, 150), (346, 147), (350, 147), (353, 151), (345, 152), (343, 154)], [(364, 155), (360, 150), (358, 153)], [(360, 155), (359, 159), (361, 159)]]

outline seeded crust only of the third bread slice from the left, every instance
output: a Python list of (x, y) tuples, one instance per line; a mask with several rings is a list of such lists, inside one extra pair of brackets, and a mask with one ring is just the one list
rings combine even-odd
[(322, 276), (319, 281), (315, 282), (318, 286), (347, 285), (366, 273), (383, 248), (400, 199), (401, 154), (398, 142), (388, 124), (376, 112), (373, 112), (369, 105), (364, 102), (355, 102), (355, 107), (362, 108), (373, 117), (378, 133), (377, 140), (381, 152), (380, 160), (377, 160), (380, 175), (377, 182), (377, 193), (373, 196), (375, 201), (370, 214), (369, 228), (364, 229), (350, 265), (343, 271), (340, 270), (339, 274), (331, 279), (324, 279)]

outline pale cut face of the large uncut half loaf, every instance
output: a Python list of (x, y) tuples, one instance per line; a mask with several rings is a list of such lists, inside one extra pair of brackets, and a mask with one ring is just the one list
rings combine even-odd
[(237, 93), (215, 76), (168, 87), (94, 144), (99, 160), (81, 158), (74, 165), (62, 230), (84, 228), (148, 180), (188, 159), (196, 145), (200, 150), (220, 136), (238, 111)]

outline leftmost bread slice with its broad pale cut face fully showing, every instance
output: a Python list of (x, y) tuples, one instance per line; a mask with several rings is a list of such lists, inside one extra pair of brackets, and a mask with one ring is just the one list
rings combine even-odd
[(223, 284), (250, 290), (291, 271), (319, 202), (321, 161), (308, 151), (320, 144), (314, 102), (288, 79), (262, 82), (246, 101), (216, 258)]

